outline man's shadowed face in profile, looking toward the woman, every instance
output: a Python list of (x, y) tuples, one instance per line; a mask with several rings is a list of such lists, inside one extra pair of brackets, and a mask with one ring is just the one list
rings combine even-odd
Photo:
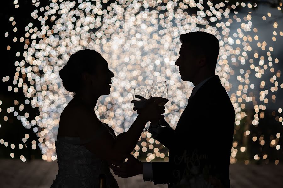
[(175, 65), (179, 66), (181, 79), (184, 81), (192, 81), (195, 77), (199, 67), (199, 56), (196, 54), (197, 50), (189, 43), (183, 43), (180, 51), (179, 58), (176, 60)]

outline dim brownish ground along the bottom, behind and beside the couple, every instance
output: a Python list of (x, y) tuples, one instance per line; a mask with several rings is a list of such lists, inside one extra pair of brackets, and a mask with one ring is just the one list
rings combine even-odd
[[(0, 160), (1, 188), (47, 188), (53, 182), (58, 170), (56, 162), (45, 162), (35, 159), (22, 162), (13, 159)], [(128, 179), (115, 176), (120, 188), (156, 187), (153, 182), (144, 182), (142, 175)], [(244, 165), (236, 163), (230, 165), (231, 188), (252, 187), (283, 187), (283, 165), (274, 163), (263, 165)]]

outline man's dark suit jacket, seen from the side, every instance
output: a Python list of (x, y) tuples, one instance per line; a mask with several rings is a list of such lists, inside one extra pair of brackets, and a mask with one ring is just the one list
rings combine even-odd
[(170, 187), (202, 174), (230, 187), (234, 119), (230, 98), (219, 76), (213, 76), (190, 97), (175, 131), (162, 128), (156, 137), (169, 149), (169, 162), (153, 162), (154, 183)]

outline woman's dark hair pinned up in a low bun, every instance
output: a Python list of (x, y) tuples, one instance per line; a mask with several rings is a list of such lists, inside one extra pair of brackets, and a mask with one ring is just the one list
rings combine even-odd
[(90, 49), (80, 50), (72, 54), (66, 65), (59, 71), (64, 88), (73, 92), (73, 96), (80, 90), (82, 73), (94, 73), (97, 61), (100, 61), (101, 55)]

